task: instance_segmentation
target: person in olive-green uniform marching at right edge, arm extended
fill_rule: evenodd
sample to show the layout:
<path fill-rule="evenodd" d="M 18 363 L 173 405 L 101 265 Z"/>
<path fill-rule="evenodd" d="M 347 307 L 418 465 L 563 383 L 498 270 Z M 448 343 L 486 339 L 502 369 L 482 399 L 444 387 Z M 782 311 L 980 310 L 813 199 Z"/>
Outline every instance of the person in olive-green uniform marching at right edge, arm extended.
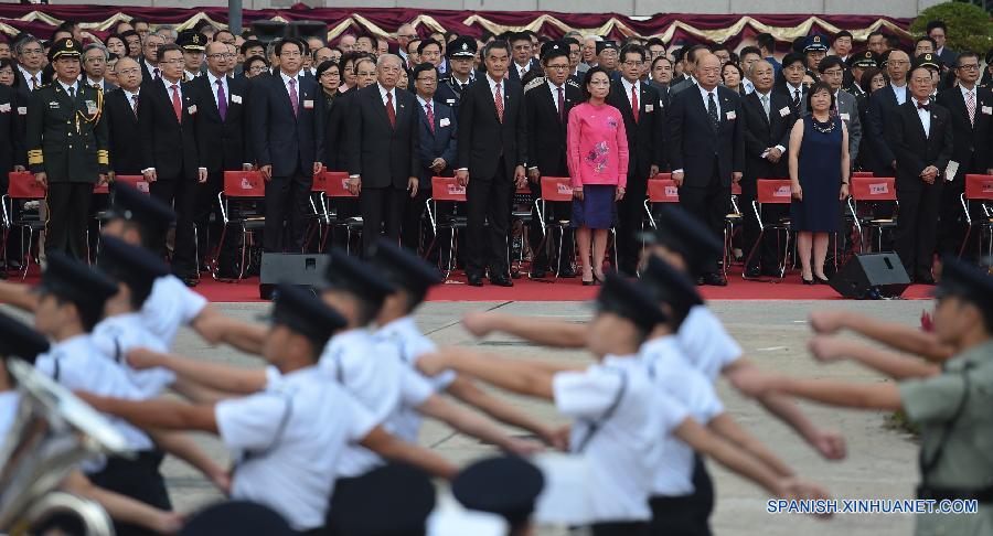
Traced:
<path fill-rule="evenodd" d="M 874 363 L 896 383 L 852 384 L 783 376 L 745 378 L 750 394 L 780 392 L 833 406 L 903 410 L 920 426 L 918 499 L 936 508 L 975 501 L 974 513 L 925 513 L 917 536 L 993 535 L 993 277 L 954 258 L 942 262 L 935 335 L 954 349 L 939 368 L 890 355 Z M 743 382 L 739 378 L 739 387 Z"/>

